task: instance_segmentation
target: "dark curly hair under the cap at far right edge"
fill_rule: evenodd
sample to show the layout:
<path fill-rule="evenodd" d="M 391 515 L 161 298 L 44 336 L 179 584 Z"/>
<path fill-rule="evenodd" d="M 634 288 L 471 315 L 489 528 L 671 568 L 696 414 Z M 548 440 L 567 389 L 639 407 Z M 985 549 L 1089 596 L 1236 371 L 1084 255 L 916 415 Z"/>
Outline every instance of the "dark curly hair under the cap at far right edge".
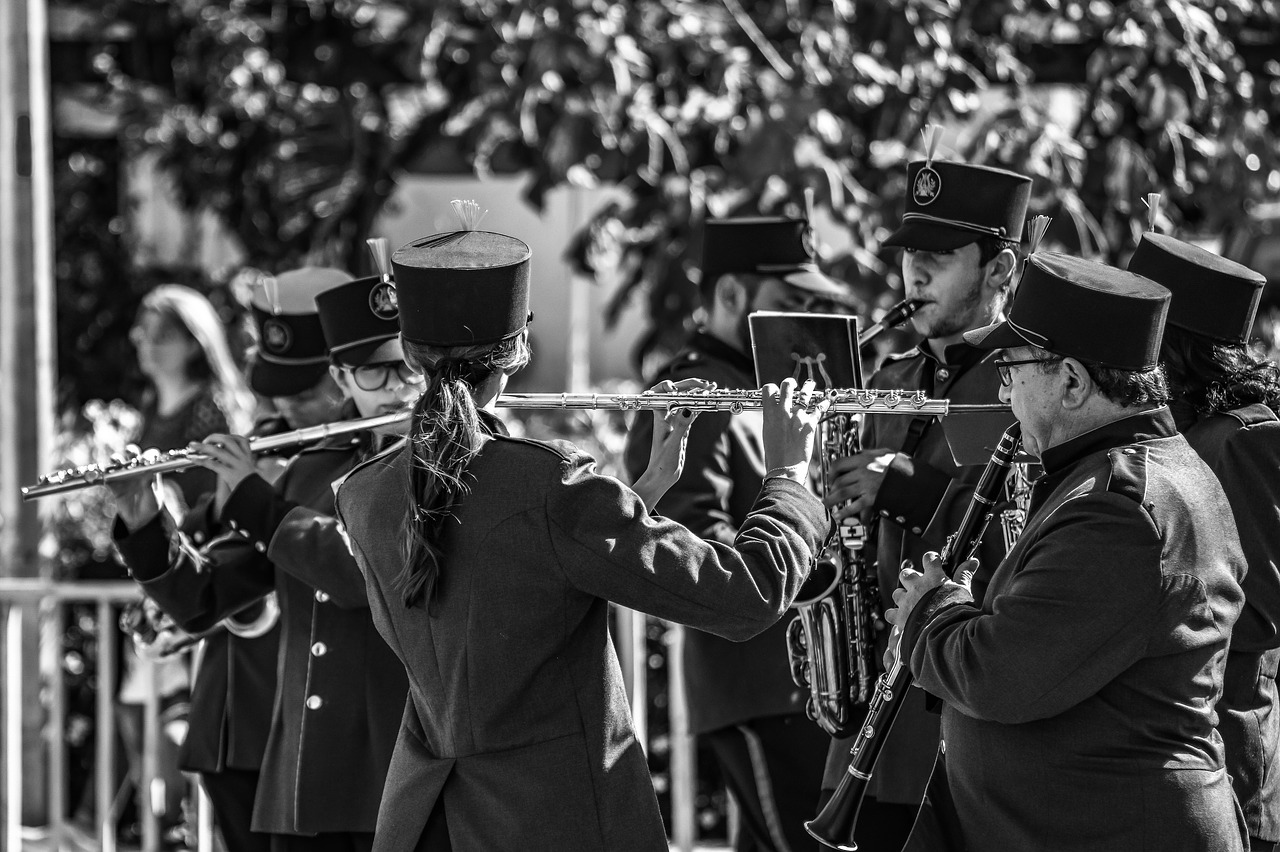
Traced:
<path fill-rule="evenodd" d="M 1262 403 L 1280 412 L 1280 365 L 1229 343 L 1170 325 L 1161 348 L 1169 384 L 1199 416 Z"/>

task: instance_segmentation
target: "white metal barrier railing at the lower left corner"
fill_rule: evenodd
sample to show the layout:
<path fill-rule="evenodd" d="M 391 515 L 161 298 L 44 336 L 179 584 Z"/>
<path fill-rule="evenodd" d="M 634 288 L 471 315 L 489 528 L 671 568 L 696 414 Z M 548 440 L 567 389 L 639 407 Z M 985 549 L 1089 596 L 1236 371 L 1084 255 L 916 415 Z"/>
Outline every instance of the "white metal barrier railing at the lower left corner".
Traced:
<path fill-rule="evenodd" d="M 116 847 L 118 793 L 115 779 L 115 692 L 119 660 L 110 631 L 115 629 L 118 608 L 141 597 L 138 587 L 128 581 L 67 582 L 46 580 L 0 578 L 0 613 L 4 618 L 4 783 L 5 783 L 5 848 L 23 848 L 23 684 L 36 677 L 47 696 L 44 702 L 47 720 L 41 727 L 47 762 L 47 846 L 68 848 L 67 843 L 67 696 L 63 677 L 61 642 L 67 623 L 67 604 L 91 603 L 97 606 L 97 677 L 95 693 L 95 761 L 93 823 L 102 852 Z M 35 617 L 40 624 L 37 672 L 28 673 L 23 651 L 24 620 Z M 159 773 L 160 696 L 155 687 L 155 664 L 140 660 L 140 674 L 146 692 L 142 722 L 142 760 L 137 783 L 137 802 L 142 828 L 142 852 L 161 848 L 160 814 L 163 779 Z M 211 811 L 204 791 L 197 793 L 196 837 L 200 852 L 212 848 Z"/>

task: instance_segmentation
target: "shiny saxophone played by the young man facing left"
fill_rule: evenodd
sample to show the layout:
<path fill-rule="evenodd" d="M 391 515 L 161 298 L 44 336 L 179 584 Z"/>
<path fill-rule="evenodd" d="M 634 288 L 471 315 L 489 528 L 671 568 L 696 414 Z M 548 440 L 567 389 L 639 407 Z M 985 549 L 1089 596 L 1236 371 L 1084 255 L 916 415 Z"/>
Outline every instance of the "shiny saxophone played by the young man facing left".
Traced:
<path fill-rule="evenodd" d="M 886 329 L 905 322 L 919 307 L 902 301 L 884 317 L 858 335 L 867 345 Z M 832 413 L 822 420 L 822 487 L 832 485 L 832 464 L 861 452 L 860 414 Z M 873 695 L 879 674 L 876 636 L 884 628 L 879 583 L 867 564 L 868 531 L 856 517 L 832 528 L 809 580 L 792 608 L 796 617 L 787 626 L 787 656 L 791 679 L 808 691 L 805 713 L 832 737 L 849 736 L 855 718 Z"/>

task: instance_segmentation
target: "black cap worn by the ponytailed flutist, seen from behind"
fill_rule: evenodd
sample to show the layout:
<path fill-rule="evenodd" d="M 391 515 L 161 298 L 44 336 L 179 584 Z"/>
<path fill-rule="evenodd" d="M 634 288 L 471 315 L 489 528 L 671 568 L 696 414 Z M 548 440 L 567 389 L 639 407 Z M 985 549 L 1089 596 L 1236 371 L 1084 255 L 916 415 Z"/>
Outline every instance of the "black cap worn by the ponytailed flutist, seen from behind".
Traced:
<path fill-rule="evenodd" d="M 520 334 L 529 312 L 529 246 L 488 230 L 424 237 L 392 255 L 399 330 L 436 347 L 498 343 Z"/>

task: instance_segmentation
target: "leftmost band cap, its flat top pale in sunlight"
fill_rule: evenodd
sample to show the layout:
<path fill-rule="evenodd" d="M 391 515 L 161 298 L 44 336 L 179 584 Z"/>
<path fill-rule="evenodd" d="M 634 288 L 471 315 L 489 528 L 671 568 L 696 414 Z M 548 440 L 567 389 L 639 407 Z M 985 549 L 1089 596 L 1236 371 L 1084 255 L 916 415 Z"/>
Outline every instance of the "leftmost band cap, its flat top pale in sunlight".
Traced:
<path fill-rule="evenodd" d="M 316 266 L 266 279 L 250 299 L 257 327 L 257 351 L 248 384 L 264 397 L 292 397 L 314 388 L 329 370 L 328 347 L 316 313 L 316 297 L 351 275 Z"/>

